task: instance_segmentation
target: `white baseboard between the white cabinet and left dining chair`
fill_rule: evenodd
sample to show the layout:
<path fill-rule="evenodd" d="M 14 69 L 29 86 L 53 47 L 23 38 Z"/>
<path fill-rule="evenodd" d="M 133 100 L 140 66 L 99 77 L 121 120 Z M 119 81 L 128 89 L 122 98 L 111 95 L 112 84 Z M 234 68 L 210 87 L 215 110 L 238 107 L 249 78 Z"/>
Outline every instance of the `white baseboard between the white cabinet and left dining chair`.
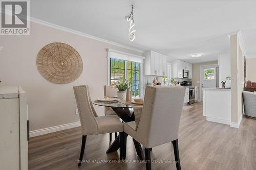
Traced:
<path fill-rule="evenodd" d="M 58 125 L 58 126 L 54 126 L 54 127 L 30 131 L 29 136 L 35 137 L 35 136 L 44 135 L 44 134 L 48 134 L 48 133 L 52 133 L 52 132 L 57 132 L 57 131 L 65 130 L 65 129 L 75 128 L 75 127 L 79 127 L 79 126 L 81 126 L 80 122 L 74 122 L 74 123 L 65 124 L 65 125 Z"/>

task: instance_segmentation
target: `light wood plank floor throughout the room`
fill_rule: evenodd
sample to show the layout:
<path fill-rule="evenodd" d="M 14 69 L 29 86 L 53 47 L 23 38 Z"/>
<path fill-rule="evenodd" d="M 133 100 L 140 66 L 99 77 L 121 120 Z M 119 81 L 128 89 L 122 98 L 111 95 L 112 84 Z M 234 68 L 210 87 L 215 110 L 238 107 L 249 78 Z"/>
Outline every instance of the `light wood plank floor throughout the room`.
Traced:
<path fill-rule="evenodd" d="M 179 130 L 182 169 L 256 169 L 256 120 L 243 117 L 239 129 L 206 122 L 203 105 L 183 110 Z M 114 134 L 113 134 L 114 137 Z M 33 137 L 29 141 L 29 169 L 145 169 L 144 163 L 82 163 L 80 128 Z M 119 152 L 106 154 L 109 134 L 89 136 L 83 159 L 118 160 Z M 172 143 L 153 148 L 153 160 L 175 160 Z M 131 137 L 126 160 L 140 160 Z M 176 169 L 175 163 L 152 163 L 152 169 Z"/>

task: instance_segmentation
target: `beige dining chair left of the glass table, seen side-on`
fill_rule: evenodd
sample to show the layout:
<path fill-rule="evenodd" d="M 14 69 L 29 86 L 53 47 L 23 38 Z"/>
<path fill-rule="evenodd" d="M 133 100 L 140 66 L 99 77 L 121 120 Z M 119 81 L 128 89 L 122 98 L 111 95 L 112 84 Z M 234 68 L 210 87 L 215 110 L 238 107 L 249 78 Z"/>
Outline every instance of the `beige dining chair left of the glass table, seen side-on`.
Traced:
<path fill-rule="evenodd" d="M 82 127 L 82 145 L 78 163 L 78 166 L 80 166 L 86 146 L 87 135 L 122 132 L 123 124 L 117 115 L 97 115 L 91 102 L 88 86 L 74 86 L 73 88 Z M 122 158 L 121 149 L 122 147 L 120 147 L 120 158 Z"/>

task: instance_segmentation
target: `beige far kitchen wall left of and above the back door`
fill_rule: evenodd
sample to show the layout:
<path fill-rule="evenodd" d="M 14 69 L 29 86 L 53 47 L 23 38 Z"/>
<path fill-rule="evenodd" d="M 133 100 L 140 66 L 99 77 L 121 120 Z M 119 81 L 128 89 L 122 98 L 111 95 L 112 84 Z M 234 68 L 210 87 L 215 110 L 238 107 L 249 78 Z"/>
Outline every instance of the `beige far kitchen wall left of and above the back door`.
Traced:
<path fill-rule="evenodd" d="M 201 90 L 200 90 L 200 65 L 211 65 L 218 64 L 218 61 L 210 61 L 204 63 L 192 64 L 192 86 L 198 86 L 198 99 L 201 100 Z"/>

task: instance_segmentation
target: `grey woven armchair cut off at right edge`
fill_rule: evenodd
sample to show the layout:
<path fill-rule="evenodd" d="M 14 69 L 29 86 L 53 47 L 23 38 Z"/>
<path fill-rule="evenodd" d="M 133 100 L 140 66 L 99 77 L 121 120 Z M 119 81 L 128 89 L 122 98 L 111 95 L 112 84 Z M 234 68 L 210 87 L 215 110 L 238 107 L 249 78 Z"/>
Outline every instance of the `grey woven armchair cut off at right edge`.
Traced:
<path fill-rule="evenodd" d="M 256 118 L 256 94 L 250 91 L 243 91 L 244 114 Z"/>

